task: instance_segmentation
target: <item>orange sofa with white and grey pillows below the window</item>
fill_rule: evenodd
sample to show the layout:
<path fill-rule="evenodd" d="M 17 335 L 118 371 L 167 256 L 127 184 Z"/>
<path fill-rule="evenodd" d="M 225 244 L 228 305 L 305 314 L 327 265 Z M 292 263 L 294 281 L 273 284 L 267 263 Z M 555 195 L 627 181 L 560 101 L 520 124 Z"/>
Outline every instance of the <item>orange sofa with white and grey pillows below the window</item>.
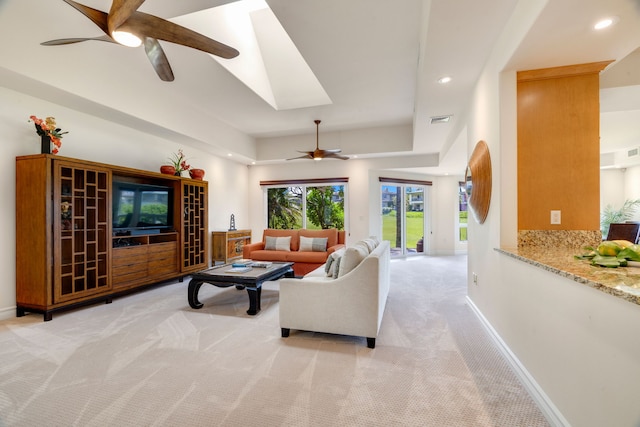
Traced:
<path fill-rule="evenodd" d="M 244 246 L 242 256 L 254 261 L 293 262 L 294 274 L 304 276 L 324 264 L 331 253 L 344 248 L 344 239 L 344 230 L 339 231 L 335 228 L 327 230 L 268 228 L 262 234 L 262 241 Z"/>

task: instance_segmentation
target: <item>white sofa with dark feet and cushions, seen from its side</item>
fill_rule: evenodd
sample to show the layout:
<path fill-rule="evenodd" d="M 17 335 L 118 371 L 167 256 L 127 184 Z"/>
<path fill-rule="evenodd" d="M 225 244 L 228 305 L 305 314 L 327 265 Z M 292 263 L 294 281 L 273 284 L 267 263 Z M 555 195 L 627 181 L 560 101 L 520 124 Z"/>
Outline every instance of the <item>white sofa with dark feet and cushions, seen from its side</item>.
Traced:
<path fill-rule="evenodd" d="M 347 265 L 354 263 L 354 253 L 356 259 L 357 252 L 362 253 L 361 242 L 346 248 L 340 270 L 348 272 L 336 278 L 327 277 L 323 265 L 301 279 L 280 280 L 282 337 L 291 329 L 355 335 L 366 337 L 367 346 L 375 348 L 389 294 L 389 242 L 375 242 L 355 266 Z"/>

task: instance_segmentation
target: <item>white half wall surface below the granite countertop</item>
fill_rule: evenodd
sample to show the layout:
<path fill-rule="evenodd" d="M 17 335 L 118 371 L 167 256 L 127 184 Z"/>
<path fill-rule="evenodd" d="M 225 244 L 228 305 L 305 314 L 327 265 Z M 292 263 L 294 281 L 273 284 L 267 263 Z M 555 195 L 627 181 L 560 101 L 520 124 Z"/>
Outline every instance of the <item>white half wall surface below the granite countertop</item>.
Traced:
<path fill-rule="evenodd" d="M 494 267 L 500 295 L 484 313 L 560 420 L 637 426 L 640 307 L 506 255 Z"/>

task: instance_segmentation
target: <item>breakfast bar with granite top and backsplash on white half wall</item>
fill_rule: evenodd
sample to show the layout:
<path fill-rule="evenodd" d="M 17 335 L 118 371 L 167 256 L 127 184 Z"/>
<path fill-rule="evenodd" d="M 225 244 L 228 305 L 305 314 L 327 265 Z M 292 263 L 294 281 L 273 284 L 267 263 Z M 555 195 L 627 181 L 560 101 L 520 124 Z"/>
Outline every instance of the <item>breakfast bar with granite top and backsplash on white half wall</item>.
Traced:
<path fill-rule="evenodd" d="M 470 261 L 469 299 L 550 425 L 640 420 L 640 268 L 575 258 L 601 242 L 599 230 L 520 230 Z"/>

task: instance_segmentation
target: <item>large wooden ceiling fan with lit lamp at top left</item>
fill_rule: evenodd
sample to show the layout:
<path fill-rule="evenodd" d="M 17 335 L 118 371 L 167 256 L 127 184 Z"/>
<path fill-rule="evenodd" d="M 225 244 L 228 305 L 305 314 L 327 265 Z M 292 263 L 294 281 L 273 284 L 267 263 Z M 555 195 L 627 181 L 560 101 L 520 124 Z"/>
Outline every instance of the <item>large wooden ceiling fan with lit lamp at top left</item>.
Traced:
<path fill-rule="evenodd" d="M 144 44 L 147 57 L 161 80 L 174 80 L 167 56 L 158 40 L 198 49 L 225 59 L 235 58 L 239 52 L 223 43 L 210 39 L 181 25 L 154 15 L 138 12 L 145 0 L 113 0 L 109 13 L 85 6 L 72 0 L 64 0 L 102 31 L 104 36 L 56 39 L 41 43 L 44 46 L 59 46 L 87 40 L 118 43 L 138 47 Z"/>

